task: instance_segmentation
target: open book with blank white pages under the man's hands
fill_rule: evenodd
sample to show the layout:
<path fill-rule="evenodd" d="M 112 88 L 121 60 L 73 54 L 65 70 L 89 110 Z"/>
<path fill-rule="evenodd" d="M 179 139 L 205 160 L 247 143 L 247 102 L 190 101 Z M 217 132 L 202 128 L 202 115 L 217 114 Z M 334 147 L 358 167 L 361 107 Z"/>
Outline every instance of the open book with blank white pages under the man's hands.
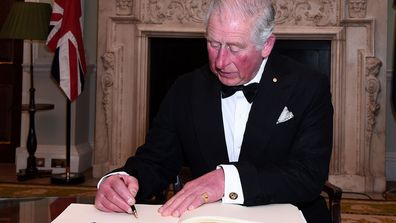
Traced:
<path fill-rule="evenodd" d="M 99 211 L 92 204 L 71 204 L 52 223 L 306 223 L 297 207 L 290 204 L 271 204 L 244 207 L 211 203 L 187 211 L 180 218 L 162 217 L 160 205 L 136 205 L 139 218 L 126 213 Z"/>

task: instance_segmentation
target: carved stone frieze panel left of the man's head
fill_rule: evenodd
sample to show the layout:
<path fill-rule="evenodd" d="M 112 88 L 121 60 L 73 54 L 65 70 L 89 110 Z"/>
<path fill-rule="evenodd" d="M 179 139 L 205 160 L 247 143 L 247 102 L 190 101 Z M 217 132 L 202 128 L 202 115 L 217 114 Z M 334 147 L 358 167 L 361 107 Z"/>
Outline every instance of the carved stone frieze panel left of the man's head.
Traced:
<path fill-rule="evenodd" d="M 202 23 L 209 0 L 149 0 L 145 23 Z"/>

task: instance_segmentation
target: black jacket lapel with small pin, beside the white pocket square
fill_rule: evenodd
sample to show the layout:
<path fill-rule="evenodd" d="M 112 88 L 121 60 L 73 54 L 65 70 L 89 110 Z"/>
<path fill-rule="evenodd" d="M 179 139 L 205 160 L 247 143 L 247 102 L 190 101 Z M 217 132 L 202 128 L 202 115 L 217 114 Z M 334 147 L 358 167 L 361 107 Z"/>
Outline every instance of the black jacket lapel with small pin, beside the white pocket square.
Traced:
<path fill-rule="evenodd" d="M 282 66 L 283 61 L 277 56 L 268 59 L 246 123 L 239 161 L 257 157 L 266 148 L 276 121 L 287 106 L 295 80 Z"/>

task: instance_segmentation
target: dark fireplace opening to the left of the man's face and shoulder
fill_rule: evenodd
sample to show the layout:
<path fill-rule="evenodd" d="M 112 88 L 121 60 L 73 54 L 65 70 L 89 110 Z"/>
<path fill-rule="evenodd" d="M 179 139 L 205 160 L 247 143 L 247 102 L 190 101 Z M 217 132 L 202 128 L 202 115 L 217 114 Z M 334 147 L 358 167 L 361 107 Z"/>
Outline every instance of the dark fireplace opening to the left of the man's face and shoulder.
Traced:
<path fill-rule="evenodd" d="M 149 124 L 176 78 L 208 61 L 204 38 L 149 39 Z"/>

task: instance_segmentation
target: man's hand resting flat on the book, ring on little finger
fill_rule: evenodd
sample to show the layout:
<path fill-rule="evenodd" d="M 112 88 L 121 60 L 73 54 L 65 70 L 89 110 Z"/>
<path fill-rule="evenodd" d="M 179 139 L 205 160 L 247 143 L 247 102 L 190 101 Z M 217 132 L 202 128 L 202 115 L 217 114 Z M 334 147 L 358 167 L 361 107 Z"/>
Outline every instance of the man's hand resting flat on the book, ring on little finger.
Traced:
<path fill-rule="evenodd" d="M 205 199 L 204 196 L 207 195 Z M 169 199 L 158 211 L 162 216 L 179 217 L 187 210 L 205 203 L 220 200 L 224 195 L 223 169 L 211 171 L 184 185 L 179 193 Z"/>

